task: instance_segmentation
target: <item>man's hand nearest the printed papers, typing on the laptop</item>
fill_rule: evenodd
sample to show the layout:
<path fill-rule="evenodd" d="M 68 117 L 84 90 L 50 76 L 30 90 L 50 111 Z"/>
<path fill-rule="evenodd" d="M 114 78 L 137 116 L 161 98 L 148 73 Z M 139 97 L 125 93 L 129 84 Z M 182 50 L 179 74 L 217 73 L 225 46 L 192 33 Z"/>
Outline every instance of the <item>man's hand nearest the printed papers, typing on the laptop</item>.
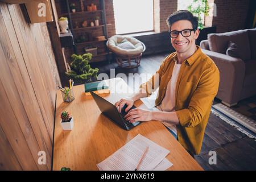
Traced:
<path fill-rule="evenodd" d="M 151 110 L 145 110 L 141 108 L 131 109 L 126 115 L 126 121 L 137 122 L 137 121 L 150 121 L 152 120 Z"/>

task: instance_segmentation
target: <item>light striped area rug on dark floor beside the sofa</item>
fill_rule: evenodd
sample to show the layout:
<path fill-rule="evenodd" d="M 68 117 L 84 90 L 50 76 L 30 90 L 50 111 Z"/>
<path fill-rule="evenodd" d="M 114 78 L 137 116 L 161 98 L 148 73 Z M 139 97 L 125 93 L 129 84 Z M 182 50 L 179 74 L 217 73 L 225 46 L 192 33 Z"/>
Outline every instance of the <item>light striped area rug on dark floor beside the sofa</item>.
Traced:
<path fill-rule="evenodd" d="M 256 139 L 255 119 L 241 114 L 241 111 L 238 113 L 238 111 L 234 110 L 232 107 L 227 107 L 221 103 L 212 106 L 212 113 L 246 134 L 249 138 Z"/>

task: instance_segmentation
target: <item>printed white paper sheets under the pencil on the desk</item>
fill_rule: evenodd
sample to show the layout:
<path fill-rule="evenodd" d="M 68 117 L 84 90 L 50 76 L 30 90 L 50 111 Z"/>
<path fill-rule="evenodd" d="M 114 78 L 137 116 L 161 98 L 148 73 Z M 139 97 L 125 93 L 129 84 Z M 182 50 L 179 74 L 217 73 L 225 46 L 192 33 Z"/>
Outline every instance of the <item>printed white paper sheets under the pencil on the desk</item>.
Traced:
<path fill-rule="evenodd" d="M 155 168 L 156 170 L 165 170 L 172 166 L 172 163 L 165 159 L 170 151 L 138 134 L 125 146 L 97 164 L 97 167 L 104 171 L 134 171 L 147 146 L 148 152 L 138 170 L 150 171 Z"/>

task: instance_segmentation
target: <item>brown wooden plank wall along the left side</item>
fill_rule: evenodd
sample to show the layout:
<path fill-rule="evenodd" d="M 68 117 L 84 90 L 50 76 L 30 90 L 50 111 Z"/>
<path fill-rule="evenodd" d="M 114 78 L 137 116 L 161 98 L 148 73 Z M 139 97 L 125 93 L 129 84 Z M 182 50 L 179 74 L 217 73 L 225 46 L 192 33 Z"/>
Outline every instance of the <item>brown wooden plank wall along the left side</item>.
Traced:
<path fill-rule="evenodd" d="M 40 23 L 27 22 L 0 2 L 0 170 L 51 169 L 56 90 Z"/>

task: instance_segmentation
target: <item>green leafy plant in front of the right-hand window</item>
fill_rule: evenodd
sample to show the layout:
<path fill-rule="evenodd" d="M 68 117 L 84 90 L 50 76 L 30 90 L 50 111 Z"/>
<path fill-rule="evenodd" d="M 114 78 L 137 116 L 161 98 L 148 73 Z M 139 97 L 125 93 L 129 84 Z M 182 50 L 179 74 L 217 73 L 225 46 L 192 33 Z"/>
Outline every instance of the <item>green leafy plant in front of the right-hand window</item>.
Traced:
<path fill-rule="evenodd" d="M 204 28 L 204 19 L 201 16 L 209 15 L 208 0 L 193 0 L 193 3 L 187 9 L 198 18 L 198 28 L 202 30 Z"/>

